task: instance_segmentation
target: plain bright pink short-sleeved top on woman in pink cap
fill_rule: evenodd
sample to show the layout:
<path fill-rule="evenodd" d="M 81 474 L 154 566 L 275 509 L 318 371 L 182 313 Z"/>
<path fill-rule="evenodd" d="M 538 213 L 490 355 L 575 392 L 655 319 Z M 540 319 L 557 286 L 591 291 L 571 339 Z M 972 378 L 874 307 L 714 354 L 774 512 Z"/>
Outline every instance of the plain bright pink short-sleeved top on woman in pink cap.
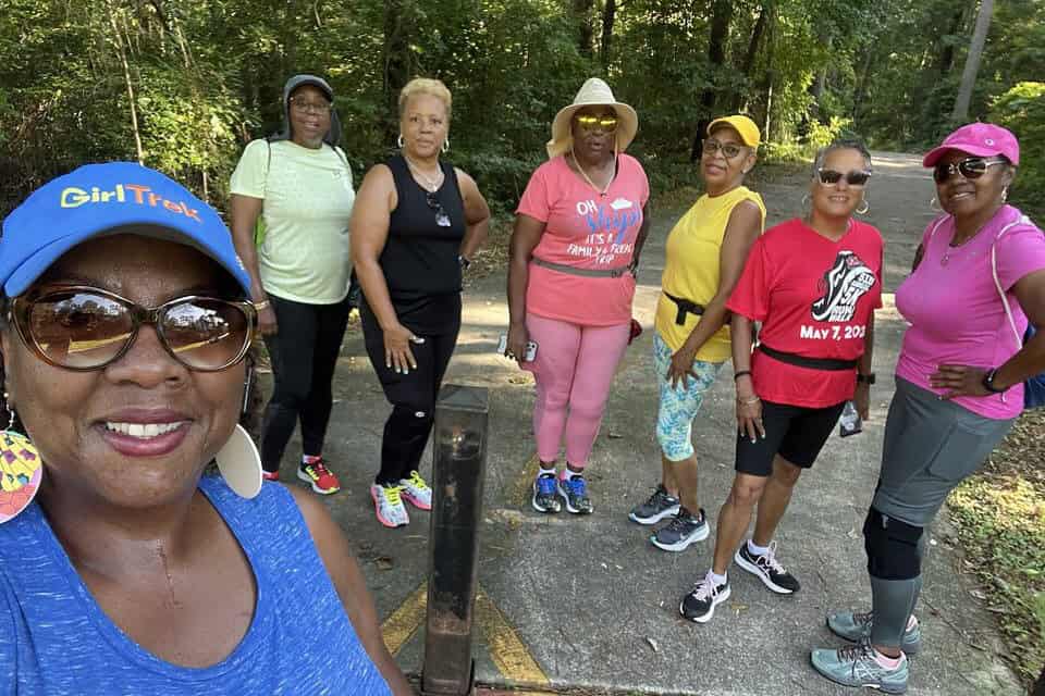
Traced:
<path fill-rule="evenodd" d="M 896 308 L 911 323 L 896 365 L 898 377 L 939 394 L 929 385 L 937 365 L 997 368 L 1020 349 L 991 268 L 991 247 L 998 233 L 1020 216 L 1019 210 L 1006 206 L 960 247 L 950 247 L 954 219 L 944 220 L 931 236 L 936 221 L 929 225 L 922 236 L 922 262 L 896 290 Z M 1030 222 L 1015 225 L 997 239 L 996 256 L 998 279 L 1022 336 L 1026 315 L 1011 289 L 1023 276 L 1045 269 L 1045 235 Z M 1023 410 L 1023 385 L 1001 395 L 959 397 L 955 403 L 985 418 L 1016 418 Z"/>

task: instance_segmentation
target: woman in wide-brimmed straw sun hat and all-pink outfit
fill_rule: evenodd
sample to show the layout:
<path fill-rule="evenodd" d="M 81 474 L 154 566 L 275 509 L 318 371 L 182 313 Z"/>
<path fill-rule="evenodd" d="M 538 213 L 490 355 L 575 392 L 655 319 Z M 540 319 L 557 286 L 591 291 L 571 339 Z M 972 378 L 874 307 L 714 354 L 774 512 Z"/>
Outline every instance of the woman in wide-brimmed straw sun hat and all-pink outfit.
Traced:
<path fill-rule="evenodd" d="M 649 231 L 649 181 L 624 151 L 638 116 L 592 77 L 552 123 L 549 161 L 516 210 L 506 353 L 533 372 L 540 471 L 533 507 L 592 511 L 583 477 L 631 331 L 635 273 Z M 568 301 L 564 301 L 568 298 Z M 527 343 L 537 353 L 527 360 Z M 566 467 L 556 482 L 562 440 Z"/>

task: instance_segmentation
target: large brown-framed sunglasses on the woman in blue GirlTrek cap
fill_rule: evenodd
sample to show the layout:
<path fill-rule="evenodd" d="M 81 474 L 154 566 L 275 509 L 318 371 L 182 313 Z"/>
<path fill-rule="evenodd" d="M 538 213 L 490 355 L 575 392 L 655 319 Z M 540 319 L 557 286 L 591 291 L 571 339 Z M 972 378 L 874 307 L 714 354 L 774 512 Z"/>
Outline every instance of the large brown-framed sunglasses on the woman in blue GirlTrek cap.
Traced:
<path fill-rule="evenodd" d="M 257 312 L 249 302 L 189 295 L 142 307 L 114 293 L 63 286 L 14 298 L 11 318 L 22 343 L 67 370 L 101 370 L 123 357 L 143 325 L 189 370 L 217 372 L 250 348 Z"/>

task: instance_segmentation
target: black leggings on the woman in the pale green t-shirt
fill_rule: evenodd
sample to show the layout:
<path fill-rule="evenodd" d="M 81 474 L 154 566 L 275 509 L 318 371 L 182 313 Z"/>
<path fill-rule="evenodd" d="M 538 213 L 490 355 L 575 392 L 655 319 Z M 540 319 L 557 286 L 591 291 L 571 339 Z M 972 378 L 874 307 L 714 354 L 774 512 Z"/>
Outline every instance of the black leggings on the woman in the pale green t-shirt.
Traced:
<path fill-rule="evenodd" d="M 348 323 L 347 298 L 336 304 L 306 304 L 269 295 L 279 333 L 265 337 L 274 388 L 261 424 L 261 464 L 279 471 L 294 426 L 302 422 L 302 450 L 323 450 L 333 405 L 331 381 Z"/>

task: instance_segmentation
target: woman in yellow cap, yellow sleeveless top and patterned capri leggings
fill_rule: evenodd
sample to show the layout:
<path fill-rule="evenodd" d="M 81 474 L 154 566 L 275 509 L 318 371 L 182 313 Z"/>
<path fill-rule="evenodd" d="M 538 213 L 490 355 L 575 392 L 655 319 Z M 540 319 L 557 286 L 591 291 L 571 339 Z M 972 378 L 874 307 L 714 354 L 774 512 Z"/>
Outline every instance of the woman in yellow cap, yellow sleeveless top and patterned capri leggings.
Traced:
<path fill-rule="evenodd" d="M 762 198 L 743 186 L 759 141 L 759 128 L 747 116 L 711 122 L 700 160 L 706 192 L 667 237 L 653 336 L 662 478 L 628 517 L 647 525 L 671 518 L 650 536 L 668 551 L 681 551 L 709 535 L 697 498 L 692 422 L 729 359 L 726 300 L 765 222 Z"/>

